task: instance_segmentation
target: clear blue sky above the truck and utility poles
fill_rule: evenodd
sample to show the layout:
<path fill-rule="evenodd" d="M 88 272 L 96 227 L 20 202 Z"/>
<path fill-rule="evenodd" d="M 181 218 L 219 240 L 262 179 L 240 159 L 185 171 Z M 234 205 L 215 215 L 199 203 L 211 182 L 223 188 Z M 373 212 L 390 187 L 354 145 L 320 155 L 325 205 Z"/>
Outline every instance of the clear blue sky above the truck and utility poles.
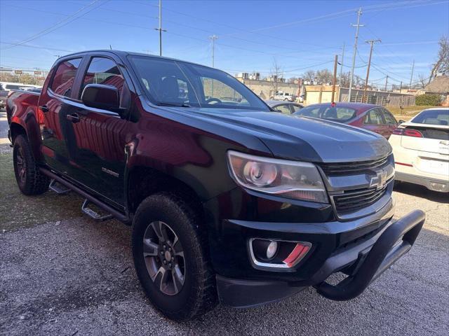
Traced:
<path fill-rule="evenodd" d="M 332 69 L 333 57 L 341 57 L 345 43 L 347 71 L 355 32 L 350 24 L 356 22 L 359 6 L 365 27 L 360 29 L 356 75 L 366 76 L 365 41 L 381 38 L 370 81 L 384 83 L 388 74 L 390 83 L 408 83 L 413 59 L 413 80 L 420 73 L 428 76 L 438 38 L 449 34 L 447 0 L 163 0 L 163 55 L 210 65 L 209 36 L 215 34 L 215 67 L 266 75 L 276 58 L 289 78 L 307 69 Z M 57 55 L 109 45 L 158 54 L 157 17 L 156 0 L 0 0 L 0 65 L 49 69 Z"/>

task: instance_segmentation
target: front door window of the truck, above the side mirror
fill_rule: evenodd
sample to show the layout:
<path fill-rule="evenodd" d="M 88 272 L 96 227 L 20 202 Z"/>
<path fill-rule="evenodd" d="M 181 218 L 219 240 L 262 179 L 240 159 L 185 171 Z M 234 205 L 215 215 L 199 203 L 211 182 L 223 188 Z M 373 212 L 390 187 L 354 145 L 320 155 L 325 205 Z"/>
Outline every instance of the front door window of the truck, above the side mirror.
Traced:
<path fill-rule="evenodd" d="M 119 67 L 112 59 L 105 57 L 93 57 L 81 84 L 80 97 L 84 87 L 88 84 L 112 85 L 119 90 L 122 96 L 123 86 L 126 85 Z"/>

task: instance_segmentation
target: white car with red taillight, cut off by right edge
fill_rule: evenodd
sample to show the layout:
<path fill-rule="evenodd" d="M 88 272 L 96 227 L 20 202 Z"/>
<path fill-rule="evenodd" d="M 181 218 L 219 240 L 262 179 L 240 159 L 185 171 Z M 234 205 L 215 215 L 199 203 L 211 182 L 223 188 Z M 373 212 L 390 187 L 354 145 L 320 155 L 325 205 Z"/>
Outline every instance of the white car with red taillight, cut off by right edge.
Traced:
<path fill-rule="evenodd" d="M 389 138 L 396 181 L 449 192 L 449 108 L 421 111 Z"/>

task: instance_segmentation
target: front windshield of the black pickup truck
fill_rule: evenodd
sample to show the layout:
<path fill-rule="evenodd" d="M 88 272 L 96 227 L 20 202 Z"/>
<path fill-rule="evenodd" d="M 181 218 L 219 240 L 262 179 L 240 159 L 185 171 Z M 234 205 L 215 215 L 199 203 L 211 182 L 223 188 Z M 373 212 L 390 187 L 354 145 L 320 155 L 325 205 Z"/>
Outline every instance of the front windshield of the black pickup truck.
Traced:
<path fill-rule="evenodd" d="M 253 91 L 223 71 L 171 59 L 137 55 L 129 58 L 154 104 L 270 111 Z"/>

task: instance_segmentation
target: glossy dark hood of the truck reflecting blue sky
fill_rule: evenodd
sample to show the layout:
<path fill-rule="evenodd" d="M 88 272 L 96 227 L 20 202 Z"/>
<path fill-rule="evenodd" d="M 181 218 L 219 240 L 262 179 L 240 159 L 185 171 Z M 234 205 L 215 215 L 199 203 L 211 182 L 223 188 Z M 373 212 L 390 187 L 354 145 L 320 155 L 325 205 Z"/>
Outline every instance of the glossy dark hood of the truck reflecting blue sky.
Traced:
<path fill-rule="evenodd" d="M 276 112 L 187 109 L 198 118 L 227 123 L 258 137 L 276 158 L 309 162 L 375 160 L 391 153 L 384 137 L 358 127 Z"/>

